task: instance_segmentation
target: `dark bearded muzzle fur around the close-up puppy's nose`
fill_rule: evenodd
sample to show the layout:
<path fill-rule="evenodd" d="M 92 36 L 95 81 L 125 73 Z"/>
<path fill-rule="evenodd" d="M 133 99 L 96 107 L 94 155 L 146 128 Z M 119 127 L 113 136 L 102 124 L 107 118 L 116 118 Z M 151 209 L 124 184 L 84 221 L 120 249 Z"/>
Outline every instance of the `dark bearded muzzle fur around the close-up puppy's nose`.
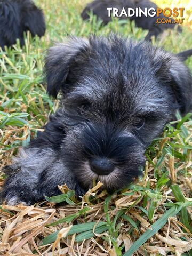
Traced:
<path fill-rule="evenodd" d="M 62 159 L 79 185 L 88 189 L 101 181 L 109 192 L 121 189 L 142 174 L 145 147 L 132 134 L 113 125 L 86 124 L 71 129 L 63 141 Z M 113 165 L 110 173 L 97 173 L 93 161 L 104 159 Z"/>

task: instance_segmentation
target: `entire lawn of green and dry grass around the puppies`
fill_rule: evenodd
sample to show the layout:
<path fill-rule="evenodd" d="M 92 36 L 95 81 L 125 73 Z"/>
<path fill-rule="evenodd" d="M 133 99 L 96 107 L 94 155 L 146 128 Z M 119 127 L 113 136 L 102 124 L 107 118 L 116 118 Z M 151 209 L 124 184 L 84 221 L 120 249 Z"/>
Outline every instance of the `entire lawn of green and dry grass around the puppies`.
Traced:
<path fill-rule="evenodd" d="M 129 21 L 121 26 L 114 19 L 106 27 L 94 17 L 92 23 L 82 21 L 80 13 L 90 1 L 35 2 L 45 13 L 45 36 L 31 39 L 28 34 L 22 49 L 18 42 L 0 51 L 0 167 L 11 163 L 18 147 L 26 146 L 59 106 L 47 97 L 42 78 L 45 50 L 54 41 L 111 31 L 138 40 L 147 34 Z M 181 34 L 167 30 L 153 44 L 174 53 L 190 49 L 190 0 L 158 4 L 186 7 L 186 21 Z M 186 65 L 192 70 L 192 57 Z M 63 187 L 62 198 L 52 201 L 70 203 L 65 206 L 46 201 L 29 207 L 1 205 L 0 255 L 191 255 L 190 117 L 177 113 L 146 151 L 143 177 L 123 191 L 108 195 L 98 184 L 77 201 Z M 4 178 L 2 172 L 0 186 Z"/>

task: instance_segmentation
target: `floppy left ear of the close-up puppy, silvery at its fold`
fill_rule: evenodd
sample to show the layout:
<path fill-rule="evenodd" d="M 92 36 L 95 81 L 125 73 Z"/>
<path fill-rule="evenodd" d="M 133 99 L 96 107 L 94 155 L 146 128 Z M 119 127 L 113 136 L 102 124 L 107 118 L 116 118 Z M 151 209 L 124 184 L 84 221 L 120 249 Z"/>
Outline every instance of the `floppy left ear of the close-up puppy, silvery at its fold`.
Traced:
<path fill-rule="evenodd" d="M 44 74 L 48 95 L 57 98 L 60 89 L 65 92 L 72 64 L 88 46 L 89 42 L 84 39 L 68 38 L 67 42 L 58 43 L 47 51 Z"/>

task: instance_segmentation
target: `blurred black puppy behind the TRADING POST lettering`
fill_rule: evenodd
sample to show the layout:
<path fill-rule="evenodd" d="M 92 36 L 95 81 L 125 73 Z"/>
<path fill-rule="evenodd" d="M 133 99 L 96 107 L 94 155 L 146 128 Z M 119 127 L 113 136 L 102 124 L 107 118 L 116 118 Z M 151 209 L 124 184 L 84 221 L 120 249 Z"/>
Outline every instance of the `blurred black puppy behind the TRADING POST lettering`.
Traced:
<path fill-rule="evenodd" d="M 93 2 L 87 4 L 85 9 L 83 10 L 81 16 L 84 20 L 87 20 L 90 18 L 89 13 L 93 12 L 94 15 L 97 16 L 97 18 L 100 18 L 103 22 L 103 25 L 106 25 L 109 21 L 111 21 L 111 17 L 108 17 L 108 10 L 107 8 L 117 8 L 119 12 L 125 8 L 141 8 L 142 10 L 145 10 L 145 8 L 150 9 L 154 8 L 157 9 L 157 5 L 149 0 L 94 0 Z M 157 18 L 166 18 L 161 13 L 159 14 L 159 17 L 145 17 L 145 15 L 141 15 L 141 17 L 129 17 L 129 19 L 132 21 L 135 21 L 135 25 L 137 27 L 140 27 L 142 29 L 148 29 L 149 32 L 146 36 L 146 40 L 150 40 L 152 36 L 157 37 L 160 33 L 162 33 L 165 29 L 173 29 L 175 27 L 175 24 L 170 23 L 160 23 L 156 24 Z M 122 16 L 119 17 L 119 19 L 127 19 L 127 17 Z M 167 18 L 166 18 L 167 19 Z M 171 18 L 169 18 L 171 19 Z M 174 22 L 174 19 L 171 19 L 172 22 Z M 178 26 L 178 31 L 181 32 L 181 27 Z"/>

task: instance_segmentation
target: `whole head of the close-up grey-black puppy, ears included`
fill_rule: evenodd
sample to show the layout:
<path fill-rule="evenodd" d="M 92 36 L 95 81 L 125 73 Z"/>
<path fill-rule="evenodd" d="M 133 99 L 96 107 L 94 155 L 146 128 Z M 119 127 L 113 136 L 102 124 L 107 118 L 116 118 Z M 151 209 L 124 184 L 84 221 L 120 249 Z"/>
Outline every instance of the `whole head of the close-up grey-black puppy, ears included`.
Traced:
<path fill-rule="evenodd" d="M 52 47 L 47 91 L 62 91 L 61 157 L 83 188 L 122 188 L 141 174 L 145 149 L 175 109 L 188 111 L 191 76 L 179 58 L 112 36 Z"/>

